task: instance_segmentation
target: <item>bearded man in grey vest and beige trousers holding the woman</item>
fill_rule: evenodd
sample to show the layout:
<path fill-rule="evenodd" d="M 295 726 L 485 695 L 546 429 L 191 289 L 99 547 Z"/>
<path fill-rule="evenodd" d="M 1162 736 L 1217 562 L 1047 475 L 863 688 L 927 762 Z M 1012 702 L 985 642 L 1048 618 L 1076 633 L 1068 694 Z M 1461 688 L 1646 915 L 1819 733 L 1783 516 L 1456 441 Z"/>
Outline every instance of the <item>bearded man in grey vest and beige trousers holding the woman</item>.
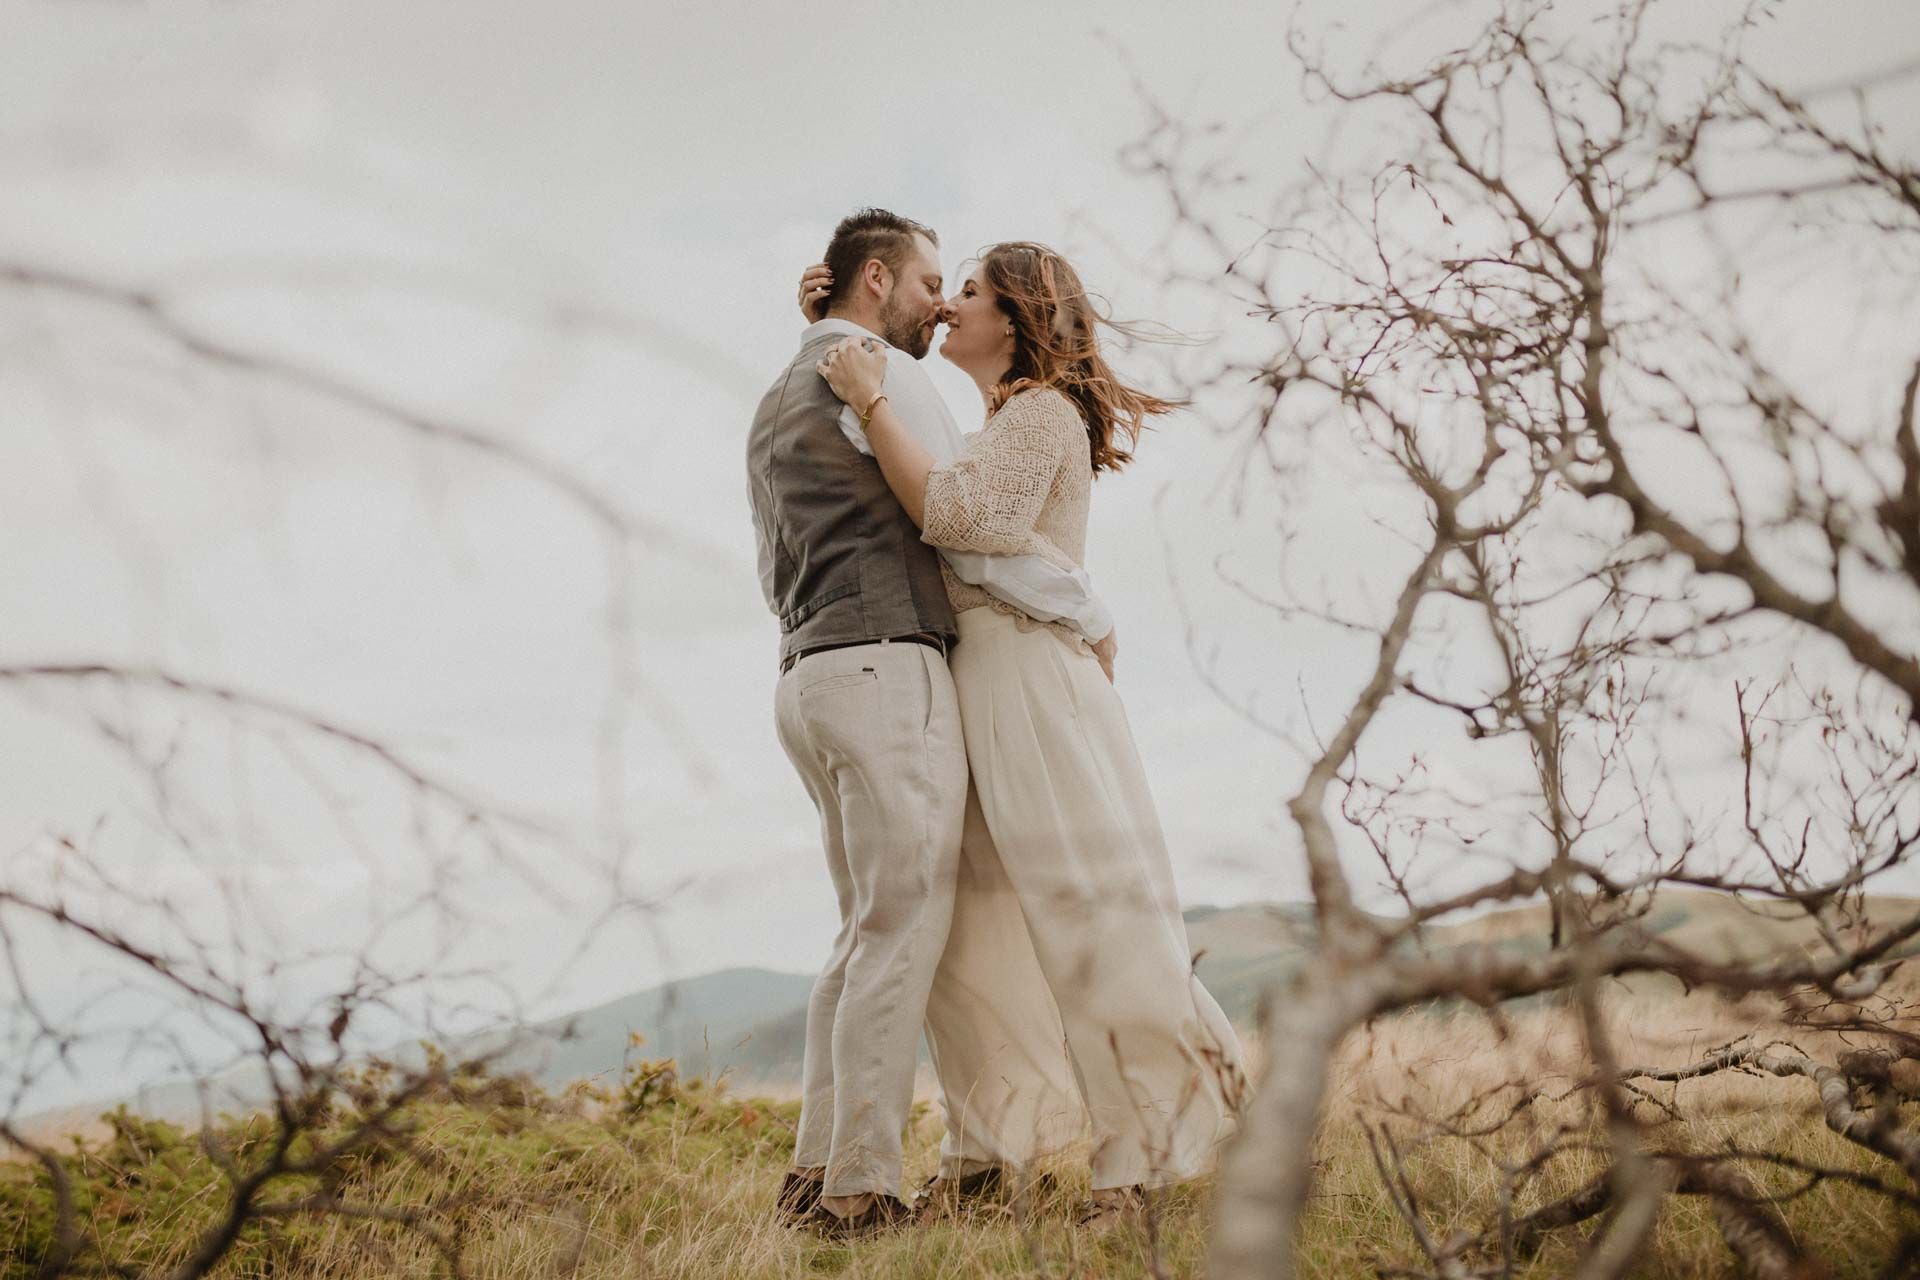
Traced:
<path fill-rule="evenodd" d="M 883 209 L 833 230 L 826 319 L 747 436 L 760 587 L 780 618 L 776 722 L 814 806 L 841 929 L 806 1013 L 801 1130 L 781 1209 L 831 1234 L 906 1221 L 900 1130 L 954 910 L 968 766 L 947 670 L 964 581 L 1110 647 L 1085 572 L 1041 557 L 947 553 L 887 489 L 858 413 L 814 370 L 833 342 L 887 344 L 893 411 L 939 462 L 960 432 L 916 363 L 941 315 L 935 234 Z"/>

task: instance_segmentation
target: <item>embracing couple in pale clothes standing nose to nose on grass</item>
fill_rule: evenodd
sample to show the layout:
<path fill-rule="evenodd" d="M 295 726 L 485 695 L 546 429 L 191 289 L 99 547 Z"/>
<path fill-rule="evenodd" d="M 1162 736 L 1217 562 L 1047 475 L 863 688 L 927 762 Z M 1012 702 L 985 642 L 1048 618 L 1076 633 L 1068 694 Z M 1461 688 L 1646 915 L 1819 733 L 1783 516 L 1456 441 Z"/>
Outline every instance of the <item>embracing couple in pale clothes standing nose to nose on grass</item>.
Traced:
<path fill-rule="evenodd" d="M 1112 1224 L 1210 1167 L 1244 1090 L 1081 568 L 1094 474 L 1175 405 L 1114 376 L 1052 249 L 996 244 L 941 286 L 933 230 L 843 219 L 747 438 L 776 723 L 841 917 L 780 1211 L 833 1236 L 964 1205 L 1089 1128 L 1083 1222 Z M 918 365 L 941 324 L 985 401 L 968 438 Z M 916 1211 L 922 1029 L 947 1136 Z"/>

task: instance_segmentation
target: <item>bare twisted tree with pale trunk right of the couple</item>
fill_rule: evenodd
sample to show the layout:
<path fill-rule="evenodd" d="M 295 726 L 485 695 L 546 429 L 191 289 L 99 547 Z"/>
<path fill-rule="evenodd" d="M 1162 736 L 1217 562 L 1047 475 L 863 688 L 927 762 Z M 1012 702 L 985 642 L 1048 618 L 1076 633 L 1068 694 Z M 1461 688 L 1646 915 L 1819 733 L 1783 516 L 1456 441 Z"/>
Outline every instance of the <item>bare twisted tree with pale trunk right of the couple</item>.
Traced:
<path fill-rule="evenodd" d="M 1329 1063 L 1440 1000 L 1496 1023 L 1526 998 L 1567 1013 L 1578 1144 L 1607 1171 L 1524 1213 L 1488 1205 L 1505 1224 L 1453 1242 L 1421 1228 L 1425 1270 L 1382 1274 L 1511 1274 L 1594 1219 L 1576 1274 L 1626 1274 L 1676 1196 L 1713 1203 L 1749 1274 L 1822 1274 L 1741 1161 L 1659 1146 L 1670 1117 L 1644 1086 L 1682 1077 L 1620 1069 L 1605 1015 L 1634 975 L 1759 1002 L 1782 1046 L 1693 1077 L 1805 1079 L 1834 1132 L 1920 1174 L 1920 1128 L 1887 1088 L 1920 1044 L 1893 981 L 1920 910 L 1870 896 L 1910 883 L 1920 841 L 1920 349 L 1903 342 L 1920 171 L 1864 96 L 1849 117 L 1755 71 L 1759 6 L 1715 46 L 1657 35 L 1680 8 L 1574 27 L 1505 4 L 1405 71 L 1342 71 L 1296 29 L 1309 90 L 1377 142 L 1348 148 L 1373 167 L 1315 167 L 1254 234 L 1219 130 L 1152 107 L 1129 152 L 1169 198 L 1167 286 L 1260 320 L 1179 370 L 1284 512 L 1273 581 L 1236 585 L 1284 626 L 1375 639 L 1336 727 L 1302 743 L 1288 814 L 1317 944 L 1271 998 L 1213 1276 L 1294 1274 Z M 1342 516 L 1315 484 L 1332 461 L 1380 495 L 1377 545 L 1342 543 L 1350 591 L 1308 589 L 1296 564 L 1313 520 Z M 1786 904 L 1816 942 L 1672 936 L 1682 887 Z M 1361 910 L 1380 894 L 1394 912 Z M 1524 946 L 1427 940 L 1523 902 L 1546 912 Z M 1872 1048 L 1795 1048 L 1834 1034 Z M 1578 1144 L 1546 1136 L 1503 1197 Z M 1895 1255 L 1916 1251 L 1908 1226 Z"/>

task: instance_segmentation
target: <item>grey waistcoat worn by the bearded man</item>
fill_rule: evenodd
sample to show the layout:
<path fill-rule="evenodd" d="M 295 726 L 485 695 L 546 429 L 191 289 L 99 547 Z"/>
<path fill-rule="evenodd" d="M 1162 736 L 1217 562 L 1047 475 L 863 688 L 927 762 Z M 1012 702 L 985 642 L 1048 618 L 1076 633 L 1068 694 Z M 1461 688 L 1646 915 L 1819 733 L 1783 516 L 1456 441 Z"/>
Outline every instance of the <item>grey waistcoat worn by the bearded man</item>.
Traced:
<path fill-rule="evenodd" d="M 920 541 L 879 462 L 841 432 L 841 401 L 814 370 L 839 338 L 801 345 L 747 432 L 760 591 L 780 618 L 781 660 L 822 645 L 956 635 L 939 555 Z"/>

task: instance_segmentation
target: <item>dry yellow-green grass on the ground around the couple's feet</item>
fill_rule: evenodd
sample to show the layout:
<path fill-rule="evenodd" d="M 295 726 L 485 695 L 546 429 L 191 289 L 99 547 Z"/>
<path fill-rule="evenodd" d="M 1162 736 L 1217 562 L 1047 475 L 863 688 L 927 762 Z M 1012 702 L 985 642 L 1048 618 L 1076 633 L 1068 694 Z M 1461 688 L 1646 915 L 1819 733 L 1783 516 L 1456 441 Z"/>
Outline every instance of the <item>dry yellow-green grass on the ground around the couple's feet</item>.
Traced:
<path fill-rule="evenodd" d="M 1678 1065 L 1751 1032 L 1757 1015 L 1711 998 L 1620 994 L 1609 1004 L 1619 1054 L 1632 1065 Z M 1515 1215 L 1557 1199 L 1605 1163 L 1584 1096 L 1563 1096 L 1576 1038 L 1563 1009 L 1534 1007 L 1496 1027 L 1478 1013 L 1409 1013 L 1354 1036 L 1319 1134 L 1319 1180 L 1300 1244 L 1309 1276 L 1371 1276 L 1419 1267 L 1421 1253 L 1382 1184 L 1375 1150 L 1398 1151 L 1434 1240 L 1498 1226 L 1503 1194 Z M 1811 1052 L 1832 1052 L 1801 1038 Z M 1532 1098 L 1519 1105 L 1521 1098 Z M 217 1274 L 372 1280 L 447 1274 L 449 1255 L 472 1276 L 728 1280 L 749 1276 L 1194 1276 L 1202 1274 L 1210 1186 L 1164 1194 L 1146 1222 L 1085 1238 L 1073 1219 L 1087 1194 L 1071 1157 L 1044 1190 L 1014 1194 L 968 1217 L 891 1236 L 831 1244 L 778 1224 L 772 1199 L 793 1146 L 793 1102 L 741 1100 L 670 1075 L 622 1092 L 524 1090 L 488 1107 L 440 1098 L 407 1117 L 411 1155 L 369 1150 L 332 1188 L 282 1186 L 269 1199 L 330 1192 L 357 1217 L 292 1213 L 246 1230 Z M 1492 1121 L 1511 1113 L 1494 1126 Z M 1805 1080 L 1718 1075 L 1657 1086 L 1638 1103 L 1657 1151 L 1715 1153 L 1730 1146 L 1807 1165 L 1901 1174 L 1820 1123 Z M 1444 1136 L 1430 1121 L 1492 1128 Z M 931 1173 L 939 1119 L 922 1107 L 910 1130 L 910 1174 Z M 238 1159 L 265 1140 L 261 1119 L 228 1125 Z M 1373 1142 L 1369 1142 L 1369 1136 Z M 1526 1178 L 1546 1140 L 1561 1153 Z M 111 1117 L 111 1138 L 77 1142 L 69 1157 L 83 1196 L 81 1274 L 163 1272 L 215 1221 L 225 1182 L 179 1128 Z M 1388 1165 L 1394 1157 L 1388 1155 Z M 1843 1180 L 1747 1167 L 1778 1197 L 1795 1242 L 1836 1276 L 1880 1274 L 1916 1222 L 1893 1199 Z M 399 1224 L 417 1215 L 426 1230 Z M 1584 1232 L 1571 1226 L 1517 1265 L 1517 1276 L 1565 1274 Z M 50 1230 L 46 1180 L 31 1165 L 0 1167 L 0 1274 L 36 1270 Z M 1492 1261 L 1492 1255 L 1486 1255 Z M 1738 1274 L 1701 1197 L 1672 1197 L 1642 1276 Z"/>

